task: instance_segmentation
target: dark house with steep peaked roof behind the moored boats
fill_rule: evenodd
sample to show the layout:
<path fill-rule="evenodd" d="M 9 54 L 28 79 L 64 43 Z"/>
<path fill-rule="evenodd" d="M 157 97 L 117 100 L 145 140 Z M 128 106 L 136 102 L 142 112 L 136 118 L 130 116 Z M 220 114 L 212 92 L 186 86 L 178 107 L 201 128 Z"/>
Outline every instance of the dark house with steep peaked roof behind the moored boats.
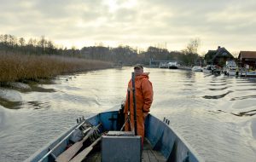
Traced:
<path fill-rule="evenodd" d="M 226 61 L 234 60 L 234 56 L 224 47 L 218 46 L 217 50 L 208 50 L 205 55 L 207 65 L 218 65 L 224 67 Z"/>

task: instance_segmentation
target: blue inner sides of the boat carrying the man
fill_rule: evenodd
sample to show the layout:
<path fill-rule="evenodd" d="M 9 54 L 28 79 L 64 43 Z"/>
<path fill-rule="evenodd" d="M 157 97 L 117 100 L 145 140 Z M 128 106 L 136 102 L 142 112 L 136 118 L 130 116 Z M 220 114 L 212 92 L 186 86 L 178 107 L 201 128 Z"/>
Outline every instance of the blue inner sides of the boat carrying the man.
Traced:
<path fill-rule="evenodd" d="M 119 130 L 119 111 L 109 111 L 105 113 L 98 113 L 86 122 L 97 125 L 102 123 L 102 130 Z M 45 148 L 38 150 L 26 161 L 55 161 L 55 158 L 65 151 L 69 144 L 70 136 L 73 130 L 79 124 L 73 126 L 70 130 L 63 133 L 53 142 L 50 142 Z M 189 161 L 197 162 L 204 161 L 201 159 L 189 144 L 183 140 L 182 137 L 177 136 L 168 124 L 155 118 L 153 115 L 148 115 L 145 121 L 145 137 L 151 143 L 154 150 L 160 151 L 167 161 Z"/>

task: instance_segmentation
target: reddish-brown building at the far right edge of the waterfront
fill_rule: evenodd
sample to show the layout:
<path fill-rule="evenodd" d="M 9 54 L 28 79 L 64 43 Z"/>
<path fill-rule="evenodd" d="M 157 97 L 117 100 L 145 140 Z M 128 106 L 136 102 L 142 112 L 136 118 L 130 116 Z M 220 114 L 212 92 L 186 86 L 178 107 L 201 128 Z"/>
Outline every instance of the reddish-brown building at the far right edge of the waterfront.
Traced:
<path fill-rule="evenodd" d="M 249 67 L 255 70 L 256 68 L 256 51 L 240 51 L 238 55 L 239 64 L 241 67 Z M 247 65 L 247 66 L 246 66 Z"/>

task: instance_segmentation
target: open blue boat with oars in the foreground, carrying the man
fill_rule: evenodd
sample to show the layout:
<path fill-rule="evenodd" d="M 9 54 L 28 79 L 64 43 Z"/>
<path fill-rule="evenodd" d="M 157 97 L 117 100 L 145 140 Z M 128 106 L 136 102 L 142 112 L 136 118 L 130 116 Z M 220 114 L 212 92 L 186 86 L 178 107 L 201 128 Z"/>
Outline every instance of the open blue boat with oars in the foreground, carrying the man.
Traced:
<path fill-rule="evenodd" d="M 115 108 L 88 119 L 77 119 L 77 124 L 32 154 L 26 162 L 204 161 L 169 126 L 169 119 L 160 120 L 151 114 L 145 120 L 145 140 L 143 148 L 140 148 L 140 136 L 134 136 L 130 131 L 119 131 L 124 123 L 122 111 Z"/>

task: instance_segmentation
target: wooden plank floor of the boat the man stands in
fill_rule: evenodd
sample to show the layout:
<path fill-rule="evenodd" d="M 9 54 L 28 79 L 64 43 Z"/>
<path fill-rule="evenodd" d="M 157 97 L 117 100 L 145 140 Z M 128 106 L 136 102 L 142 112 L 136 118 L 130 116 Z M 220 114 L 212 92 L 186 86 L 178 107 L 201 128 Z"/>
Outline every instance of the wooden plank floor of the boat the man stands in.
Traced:
<path fill-rule="evenodd" d="M 164 162 L 166 158 L 159 152 L 152 149 L 152 146 L 148 140 L 144 140 L 143 143 L 143 154 L 142 162 Z M 101 161 L 101 150 L 96 149 L 94 152 L 90 153 L 83 162 L 100 162 Z"/>

